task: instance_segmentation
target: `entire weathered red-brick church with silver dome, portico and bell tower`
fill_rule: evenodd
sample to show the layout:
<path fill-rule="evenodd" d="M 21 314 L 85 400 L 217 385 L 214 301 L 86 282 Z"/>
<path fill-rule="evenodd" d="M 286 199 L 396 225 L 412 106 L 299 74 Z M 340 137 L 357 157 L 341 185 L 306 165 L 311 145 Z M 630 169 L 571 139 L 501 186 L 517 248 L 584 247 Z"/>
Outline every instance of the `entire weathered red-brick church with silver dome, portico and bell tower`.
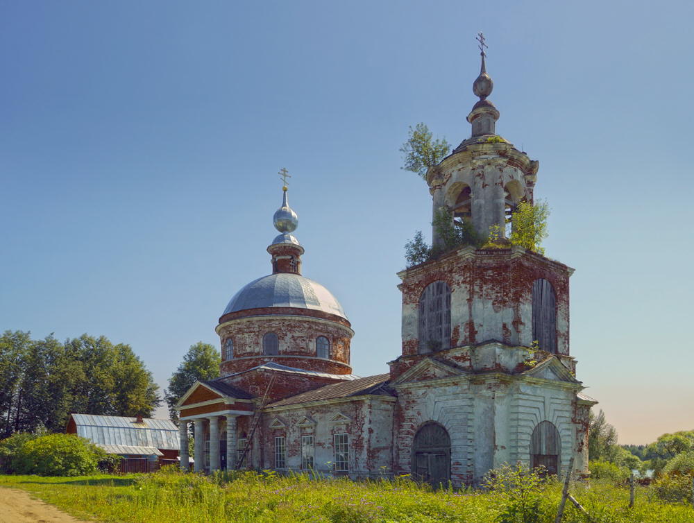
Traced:
<path fill-rule="evenodd" d="M 315 470 L 350 477 L 412 474 L 476 485 L 520 461 L 587 473 L 594 400 L 569 351 L 573 269 L 511 245 L 513 213 L 532 203 L 538 162 L 496 135 L 493 83 L 482 70 L 471 137 L 429 169 L 434 222 L 498 240 L 398 273 L 402 347 L 389 372 L 358 377 L 353 330 L 335 296 L 301 273 L 298 218 L 283 201 L 267 248 L 272 273 L 244 286 L 219 318 L 220 377 L 198 381 L 176 409 L 187 468 Z"/>

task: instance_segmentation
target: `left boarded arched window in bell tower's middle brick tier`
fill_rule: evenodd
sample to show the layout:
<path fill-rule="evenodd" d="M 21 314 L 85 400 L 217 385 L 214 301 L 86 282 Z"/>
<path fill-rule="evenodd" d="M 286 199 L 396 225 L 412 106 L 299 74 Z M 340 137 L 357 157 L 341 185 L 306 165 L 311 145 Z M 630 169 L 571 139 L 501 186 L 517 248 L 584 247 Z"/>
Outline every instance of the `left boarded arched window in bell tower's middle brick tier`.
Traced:
<path fill-rule="evenodd" d="M 450 287 L 433 282 L 419 299 L 419 353 L 450 348 Z"/>

